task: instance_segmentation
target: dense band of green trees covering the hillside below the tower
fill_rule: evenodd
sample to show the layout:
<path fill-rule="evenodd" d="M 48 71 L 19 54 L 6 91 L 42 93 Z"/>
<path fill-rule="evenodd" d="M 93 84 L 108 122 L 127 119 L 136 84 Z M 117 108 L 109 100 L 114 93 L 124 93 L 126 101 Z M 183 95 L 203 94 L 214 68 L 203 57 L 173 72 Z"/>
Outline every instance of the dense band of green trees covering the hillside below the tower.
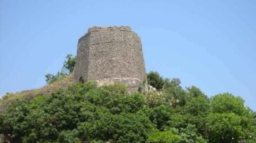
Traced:
<path fill-rule="evenodd" d="M 51 96 L 19 98 L 0 114 L 0 133 L 10 142 L 255 142 L 255 113 L 240 97 L 209 99 L 177 78 L 165 83 L 145 94 L 75 83 Z"/>

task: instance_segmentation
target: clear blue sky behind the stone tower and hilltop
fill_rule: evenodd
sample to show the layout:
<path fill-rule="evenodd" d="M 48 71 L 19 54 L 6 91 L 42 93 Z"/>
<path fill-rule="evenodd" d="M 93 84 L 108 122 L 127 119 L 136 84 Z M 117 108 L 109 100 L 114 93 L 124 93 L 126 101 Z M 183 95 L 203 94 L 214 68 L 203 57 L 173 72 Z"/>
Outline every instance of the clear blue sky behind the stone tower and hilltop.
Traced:
<path fill-rule="evenodd" d="M 0 0 L 0 95 L 46 85 L 91 26 L 129 25 L 147 72 L 256 111 L 256 1 Z"/>

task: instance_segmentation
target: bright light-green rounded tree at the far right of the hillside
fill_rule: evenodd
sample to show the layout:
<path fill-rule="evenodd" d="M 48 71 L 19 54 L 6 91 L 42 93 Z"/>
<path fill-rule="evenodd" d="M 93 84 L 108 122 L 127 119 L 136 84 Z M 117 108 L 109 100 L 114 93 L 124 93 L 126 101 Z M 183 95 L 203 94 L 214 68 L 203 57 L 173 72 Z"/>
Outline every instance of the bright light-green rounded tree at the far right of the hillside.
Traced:
<path fill-rule="evenodd" d="M 218 94 L 210 99 L 207 118 L 210 142 L 232 142 L 234 138 L 254 136 L 253 111 L 244 107 L 244 100 L 232 94 Z"/>

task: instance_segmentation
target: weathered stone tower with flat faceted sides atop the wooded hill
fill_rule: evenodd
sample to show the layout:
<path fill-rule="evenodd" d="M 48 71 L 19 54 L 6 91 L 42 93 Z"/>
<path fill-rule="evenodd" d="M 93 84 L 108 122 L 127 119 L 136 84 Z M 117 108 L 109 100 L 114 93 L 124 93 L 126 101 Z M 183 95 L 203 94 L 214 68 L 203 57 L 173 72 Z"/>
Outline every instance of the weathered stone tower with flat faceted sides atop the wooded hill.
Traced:
<path fill-rule="evenodd" d="M 127 26 L 89 28 L 77 44 L 75 80 L 122 83 L 134 92 L 146 80 L 140 37 Z"/>

